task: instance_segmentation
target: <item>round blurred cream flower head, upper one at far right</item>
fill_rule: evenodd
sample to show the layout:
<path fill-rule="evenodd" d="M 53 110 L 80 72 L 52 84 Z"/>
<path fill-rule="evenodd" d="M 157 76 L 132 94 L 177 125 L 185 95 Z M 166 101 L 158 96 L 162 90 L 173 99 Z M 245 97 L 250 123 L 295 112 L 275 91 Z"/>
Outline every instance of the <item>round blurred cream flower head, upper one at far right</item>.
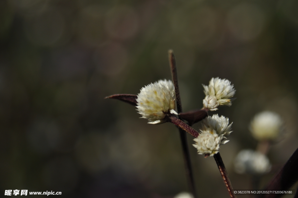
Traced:
<path fill-rule="evenodd" d="M 254 116 L 250 131 L 257 140 L 273 140 L 281 131 L 283 120 L 277 113 L 263 111 Z"/>

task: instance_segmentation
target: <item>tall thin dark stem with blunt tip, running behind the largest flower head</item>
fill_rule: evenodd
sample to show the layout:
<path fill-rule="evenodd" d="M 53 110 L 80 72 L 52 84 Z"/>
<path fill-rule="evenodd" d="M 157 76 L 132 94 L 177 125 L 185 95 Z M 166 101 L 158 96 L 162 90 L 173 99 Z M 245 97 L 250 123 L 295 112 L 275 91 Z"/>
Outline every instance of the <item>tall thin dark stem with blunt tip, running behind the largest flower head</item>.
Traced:
<path fill-rule="evenodd" d="M 177 112 L 179 114 L 182 112 L 182 105 L 181 105 L 180 92 L 179 92 L 176 59 L 175 59 L 173 50 L 169 50 L 168 53 L 169 53 L 169 62 L 170 62 L 172 79 L 173 79 L 173 83 L 174 83 L 174 87 L 175 87 Z M 180 116 L 178 116 L 178 117 L 180 120 L 182 120 Z M 180 140 L 181 140 L 182 151 L 183 151 L 183 156 L 184 156 L 184 167 L 185 167 L 188 186 L 189 186 L 190 191 L 192 192 L 193 196 L 195 198 L 197 198 L 198 196 L 195 191 L 193 170 L 191 168 L 190 154 L 189 154 L 188 145 L 187 145 L 187 135 L 181 128 L 179 128 L 179 134 L 180 134 Z"/>

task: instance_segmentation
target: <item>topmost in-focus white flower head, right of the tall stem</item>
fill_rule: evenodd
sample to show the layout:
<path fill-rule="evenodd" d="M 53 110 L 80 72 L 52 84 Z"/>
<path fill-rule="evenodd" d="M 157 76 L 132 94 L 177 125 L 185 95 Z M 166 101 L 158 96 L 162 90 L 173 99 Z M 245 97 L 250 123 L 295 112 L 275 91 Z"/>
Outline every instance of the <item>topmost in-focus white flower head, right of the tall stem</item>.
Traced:
<path fill-rule="evenodd" d="M 203 100 L 205 109 L 215 111 L 219 105 L 232 105 L 230 98 L 235 95 L 236 90 L 229 80 L 211 78 L 209 86 L 203 85 L 203 87 L 206 95 Z"/>

